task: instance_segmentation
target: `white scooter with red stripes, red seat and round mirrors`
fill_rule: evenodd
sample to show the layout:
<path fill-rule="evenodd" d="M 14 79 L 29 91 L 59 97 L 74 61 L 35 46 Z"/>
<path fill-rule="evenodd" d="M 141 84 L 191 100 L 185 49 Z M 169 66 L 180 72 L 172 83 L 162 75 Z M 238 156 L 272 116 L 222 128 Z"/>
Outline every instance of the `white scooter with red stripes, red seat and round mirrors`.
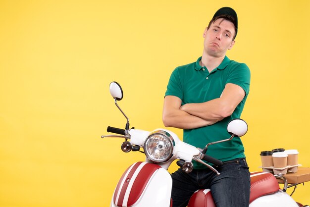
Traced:
<path fill-rule="evenodd" d="M 129 128 L 129 119 L 118 106 L 117 101 L 123 98 L 123 91 L 117 82 L 110 84 L 110 94 L 115 105 L 126 117 L 125 129 L 107 127 L 107 132 L 120 135 L 105 135 L 105 137 L 124 138 L 121 150 L 125 153 L 143 149 L 146 155 L 144 162 L 133 163 L 120 178 L 110 207 L 172 207 L 171 187 L 172 179 L 167 171 L 175 159 L 185 172 L 193 170 L 192 160 L 200 162 L 210 168 L 214 173 L 219 172 L 208 163 L 222 165 L 222 161 L 206 155 L 208 146 L 220 142 L 227 142 L 234 136 L 241 137 L 246 134 L 248 125 L 242 119 L 229 122 L 227 131 L 231 134 L 229 139 L 207 144 L 206 148 L 199 149 L 182 142 L 178 136 L 167 129 L 155 129 L 152 132 Z M 130 141 L 127 141 L 127 140 Z M 140 151 L 142 152 L 142 151 Z M 203 161 L 205 160 L 205 161 Z M 284 181 L 281 190 L 277 178 Z M 287 193 L 288 184 L 283 176 L 276 176 L 266 172 L 251 173 L 250 207 L 309 207 L 296 203 Z M 193 194 L 188 207 L 215 207 L 209 189 L 201 189 Z"/>

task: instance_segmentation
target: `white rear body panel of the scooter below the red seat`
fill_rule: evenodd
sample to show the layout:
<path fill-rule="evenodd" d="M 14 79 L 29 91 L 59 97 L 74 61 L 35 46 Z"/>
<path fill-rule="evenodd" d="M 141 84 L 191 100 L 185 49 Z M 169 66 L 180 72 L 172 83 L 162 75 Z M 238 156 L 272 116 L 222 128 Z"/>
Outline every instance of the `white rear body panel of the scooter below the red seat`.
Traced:
<path fill-rule="evenodd" d="M 249 207 L 299 207 L 298 204 L 287 193 L 277 193 L 259 197 Z"/>

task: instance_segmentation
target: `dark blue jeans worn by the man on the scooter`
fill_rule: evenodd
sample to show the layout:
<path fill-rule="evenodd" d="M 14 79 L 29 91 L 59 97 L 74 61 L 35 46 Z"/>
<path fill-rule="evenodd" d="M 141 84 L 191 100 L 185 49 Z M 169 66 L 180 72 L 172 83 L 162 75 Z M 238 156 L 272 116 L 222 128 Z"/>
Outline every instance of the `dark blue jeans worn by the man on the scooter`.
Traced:
<path fill-rule="evenodd" d="M 250 172 L 245 158 L 215 167 L 185 173 L 179 168 L 171 174 L 173 207 L 186 207 L 196 190 L 211 189 L 216 207 L 249 207 Z"/>

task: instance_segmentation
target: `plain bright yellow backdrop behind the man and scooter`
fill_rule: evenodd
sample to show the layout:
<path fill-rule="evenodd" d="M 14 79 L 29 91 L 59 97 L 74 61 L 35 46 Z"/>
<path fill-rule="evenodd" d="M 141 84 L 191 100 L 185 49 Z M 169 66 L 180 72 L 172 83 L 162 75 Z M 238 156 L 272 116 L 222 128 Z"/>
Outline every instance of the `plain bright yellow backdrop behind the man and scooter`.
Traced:
<path fill-rule="evenodd" d="M 100 138 L 126 122 L 109 83 L 122 85 L 132 126 L 163 127 L 168 78 L 202 54 L 222 6 L 239 16 L 227 55 L 252 72 L 250 170 L 275 148 L 298 149 L 309 167 L 309 0 L 0 0 L 0 206 L 109 206 L 123 171 L 144 158 Z M 309 205 L 309 192 L 305 183 L 293 198 Z"/>

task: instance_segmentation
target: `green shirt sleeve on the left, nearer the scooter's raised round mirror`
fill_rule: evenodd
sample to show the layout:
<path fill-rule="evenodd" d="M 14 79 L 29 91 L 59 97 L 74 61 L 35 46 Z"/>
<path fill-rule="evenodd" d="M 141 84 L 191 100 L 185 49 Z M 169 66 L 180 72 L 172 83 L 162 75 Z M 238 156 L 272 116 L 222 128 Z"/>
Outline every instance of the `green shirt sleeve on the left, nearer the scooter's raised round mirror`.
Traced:
<path fill-rule="evenodd" d="M 183 99 L 183 87 L 178 68 L 175 68 L 170 76 L 165 96 L 176 96 Z"/>

